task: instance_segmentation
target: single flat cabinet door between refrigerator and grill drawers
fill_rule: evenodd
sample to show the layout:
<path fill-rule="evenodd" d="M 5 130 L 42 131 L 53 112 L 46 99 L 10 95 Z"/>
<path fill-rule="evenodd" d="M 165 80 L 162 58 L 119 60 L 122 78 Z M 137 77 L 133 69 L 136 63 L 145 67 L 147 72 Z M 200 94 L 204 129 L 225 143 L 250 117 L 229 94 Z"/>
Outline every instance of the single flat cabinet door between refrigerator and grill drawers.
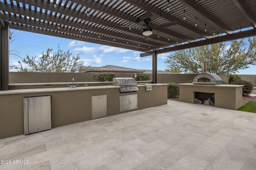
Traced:
<path fill-rule="evenodd" d="M 107 95 L 92 96 L 92 119 L 107 116 Z"/>

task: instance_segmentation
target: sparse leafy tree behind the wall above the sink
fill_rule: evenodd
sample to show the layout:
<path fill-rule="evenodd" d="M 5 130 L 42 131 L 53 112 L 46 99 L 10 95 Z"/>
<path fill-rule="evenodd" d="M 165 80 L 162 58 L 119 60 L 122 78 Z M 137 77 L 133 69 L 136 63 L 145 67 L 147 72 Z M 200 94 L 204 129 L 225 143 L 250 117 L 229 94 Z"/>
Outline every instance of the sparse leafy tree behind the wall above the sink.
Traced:
<path fill-rule="evenodd" d="M 22 59 L 22 62 L 18 61 L 20 67 L 15 66 L 18 72 L 78 72 L 83 66 L 84 62 L 79 61 L 80 57 L 72 56 L 72 53 L 61 50 L 58 46 L 58 52 L 50 54 L 52 49 L 48 48 L 46 53 L 42 53 L 42 57 L 32 57 L 28 55 Z M 28 65 L 28 68 L 24 68 L 23 64 Z"/>

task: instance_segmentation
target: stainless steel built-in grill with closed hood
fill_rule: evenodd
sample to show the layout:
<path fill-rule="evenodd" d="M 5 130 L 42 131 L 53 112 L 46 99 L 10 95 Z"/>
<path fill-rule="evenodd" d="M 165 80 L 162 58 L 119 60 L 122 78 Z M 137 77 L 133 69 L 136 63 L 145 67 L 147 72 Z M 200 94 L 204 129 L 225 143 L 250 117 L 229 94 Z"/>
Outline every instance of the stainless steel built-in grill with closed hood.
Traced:
<path fill-rule="evenodd" d="M 120 86 L 120 93 L 136 92 L 139 90 L 134 78 L 113 78 L 112 86 Z"/>

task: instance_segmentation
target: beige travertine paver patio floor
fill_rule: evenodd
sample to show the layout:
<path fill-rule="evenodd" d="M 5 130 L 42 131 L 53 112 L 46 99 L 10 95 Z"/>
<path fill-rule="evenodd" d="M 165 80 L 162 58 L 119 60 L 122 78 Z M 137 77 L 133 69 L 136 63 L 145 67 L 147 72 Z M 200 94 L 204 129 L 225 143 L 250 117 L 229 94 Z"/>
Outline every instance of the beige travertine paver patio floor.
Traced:
<path fill-rule="evenodd" d="M 0 139 L 0 160 L 11 163 L 1 170 L 255 170 L 256 114 L 168 100 Z"/>

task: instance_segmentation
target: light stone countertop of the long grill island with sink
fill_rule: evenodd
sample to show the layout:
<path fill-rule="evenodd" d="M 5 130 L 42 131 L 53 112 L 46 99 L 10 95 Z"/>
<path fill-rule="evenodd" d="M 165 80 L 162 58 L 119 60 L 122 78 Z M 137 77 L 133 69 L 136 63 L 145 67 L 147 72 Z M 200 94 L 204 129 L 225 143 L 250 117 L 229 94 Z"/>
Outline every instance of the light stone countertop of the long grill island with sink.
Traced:
<path fill-rule="evenodd" d="M 76 83 L 77 84 L 77 83 Z M 162 86 L 168 84 L 150 84 L 152 86 Z M 145 84 L 138 84 L 138 87 L 146 86 Z M 22 94 L 22 93 L 42 93 L 42 92 L 60 92 L 60 91 L 71 91 L 71 90 L 94 90 L 94 89 L 105 89 L 105 88 L 120 88 L 119 86 L 84 86 L 84 87 L 62 87 L 62 88 L 33 88 L 33 89 L 17 89 L 17 90 L 2 90 L 0 95 L 4 94 Z"/>

